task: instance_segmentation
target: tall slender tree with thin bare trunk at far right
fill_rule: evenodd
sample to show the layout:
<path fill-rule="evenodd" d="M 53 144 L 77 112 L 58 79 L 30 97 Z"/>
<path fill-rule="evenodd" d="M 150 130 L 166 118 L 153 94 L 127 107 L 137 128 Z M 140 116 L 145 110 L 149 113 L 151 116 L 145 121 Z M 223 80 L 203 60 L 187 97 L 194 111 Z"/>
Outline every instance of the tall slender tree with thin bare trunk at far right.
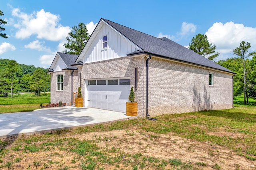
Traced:
<path fill-rule="evenodd" d="M 239 47 L 236 47 L 235 49 L 233 49 L 233 54 L 240 57 L 240 59 L 242 59 L 242 63 L 243 63 L 244 105 L 246 105 L 246 96 L 248 98 L 247 91 L 246 91 L 246 59 L 249 56 L 252 56 L 255 54 L 255 53 L 249 53 L 248 55 L 246 55 L 248 53 L 248 49 L 250 49 L 250 47 L 251 47 L 250 43 L 242 41 L 242 43 L 240 43 Z"/>

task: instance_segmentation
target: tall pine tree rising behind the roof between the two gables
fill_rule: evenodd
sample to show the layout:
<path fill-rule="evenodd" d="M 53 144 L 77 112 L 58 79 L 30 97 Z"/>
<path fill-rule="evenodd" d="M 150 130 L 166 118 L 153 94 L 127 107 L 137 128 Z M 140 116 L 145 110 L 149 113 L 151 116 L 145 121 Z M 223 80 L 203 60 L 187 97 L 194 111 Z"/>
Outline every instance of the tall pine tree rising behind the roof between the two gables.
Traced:
<path fill-rule="evenodd" d="M 84 23 L 79 23 L 78 27 L 72 27 L 72 31 L 68 33 L 68 35 L 69 36 L 66 37 L 68 43 L 64 44 L 66 50 L 63 52 L 79 55 L 87 40 L 89 39 L 89 33 L 87 31 L 86 25 Z"/>

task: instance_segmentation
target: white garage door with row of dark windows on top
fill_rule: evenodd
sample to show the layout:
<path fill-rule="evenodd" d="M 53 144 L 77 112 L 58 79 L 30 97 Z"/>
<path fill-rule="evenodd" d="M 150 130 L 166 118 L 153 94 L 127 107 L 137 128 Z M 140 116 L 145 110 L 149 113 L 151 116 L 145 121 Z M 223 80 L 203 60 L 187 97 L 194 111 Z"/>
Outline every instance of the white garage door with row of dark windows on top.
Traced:
<path fill-rule="evenodd" d="M 130 79 L 86 80 L 89 107 L 126 113 L 130 94 Z"/>

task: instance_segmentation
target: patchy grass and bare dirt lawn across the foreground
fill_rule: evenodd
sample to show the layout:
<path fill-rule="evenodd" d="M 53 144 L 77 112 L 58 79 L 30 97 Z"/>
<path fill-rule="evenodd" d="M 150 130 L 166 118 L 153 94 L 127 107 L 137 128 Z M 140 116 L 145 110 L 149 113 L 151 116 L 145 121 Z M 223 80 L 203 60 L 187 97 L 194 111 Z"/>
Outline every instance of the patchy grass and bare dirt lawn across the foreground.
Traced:
<path fill-rule="evenodd" d="M 162 115 L 0 141 L 2 169 L 255 169 L 256 107 Z"/>

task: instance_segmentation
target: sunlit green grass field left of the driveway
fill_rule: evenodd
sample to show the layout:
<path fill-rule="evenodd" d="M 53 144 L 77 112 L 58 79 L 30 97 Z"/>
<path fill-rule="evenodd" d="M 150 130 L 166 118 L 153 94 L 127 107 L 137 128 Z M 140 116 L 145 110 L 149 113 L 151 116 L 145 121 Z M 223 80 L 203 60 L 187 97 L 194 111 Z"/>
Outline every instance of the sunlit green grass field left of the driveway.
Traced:
<path fill-rule="evenodd" d="M 35 96 L 35 94 L 15 94 L 12 98 L 0 97 L 0 113 L 33 111 L 40 108 L 40 103 L 48 104 L 50 102 L 50 93 Z"/>

